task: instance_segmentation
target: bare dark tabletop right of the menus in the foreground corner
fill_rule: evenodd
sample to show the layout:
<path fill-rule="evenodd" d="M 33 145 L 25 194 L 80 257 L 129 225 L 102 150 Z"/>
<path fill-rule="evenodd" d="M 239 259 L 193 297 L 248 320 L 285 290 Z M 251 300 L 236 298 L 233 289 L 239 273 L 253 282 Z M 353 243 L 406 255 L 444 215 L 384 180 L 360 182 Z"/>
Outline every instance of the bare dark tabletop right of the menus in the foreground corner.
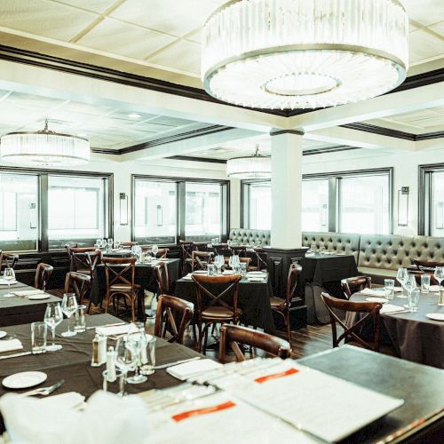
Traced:
<path fill-rule="evenodd" d="M 313 354 L 297 362 L 375 392 L 404 400 L 404 405 L 400 408 L 346 438 L 344 442 L 347 444 L 385 442 L 384 439 L 392 433 L 427 416 L 432 416 L 433 423 L 426 431 L 432 433 L 431 429 L 434 429 L 434 434 L 427 437 L 422 435 L 416 440 L 412 437 L 408 442 L 442 442 L 444 418 L 439 412 L 444 409 L 443 371 L 362 350 L 352 345 Z M 340 396 L 340 393 L 337 396 Z"/>

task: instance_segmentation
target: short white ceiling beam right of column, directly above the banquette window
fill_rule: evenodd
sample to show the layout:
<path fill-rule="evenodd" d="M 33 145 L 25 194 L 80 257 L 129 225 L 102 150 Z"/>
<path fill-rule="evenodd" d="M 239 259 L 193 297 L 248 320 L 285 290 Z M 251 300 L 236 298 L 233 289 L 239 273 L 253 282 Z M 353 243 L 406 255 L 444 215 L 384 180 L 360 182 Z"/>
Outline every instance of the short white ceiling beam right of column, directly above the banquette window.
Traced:
<path fill-rule="evenodd" d="M 324 130 L 305 132 L 304 139 L 331 143 L 332 145 L 349 145 L 368 149 L 390 149 L 393 151 L 415 151 L 415 142 L 395 139 L 364 131 L 348 128 L 326 128 Z"/>

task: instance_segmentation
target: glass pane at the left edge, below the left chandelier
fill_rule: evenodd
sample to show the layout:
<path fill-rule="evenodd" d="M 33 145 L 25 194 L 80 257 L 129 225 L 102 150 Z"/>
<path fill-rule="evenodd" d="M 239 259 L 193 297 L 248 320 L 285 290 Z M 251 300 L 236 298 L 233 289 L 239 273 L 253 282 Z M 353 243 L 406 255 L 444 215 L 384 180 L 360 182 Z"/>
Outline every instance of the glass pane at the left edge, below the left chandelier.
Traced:
<path fill-rule="evenodd" d="M 37 250 L 38 178 L 0 174 L 0 250 Z"/>

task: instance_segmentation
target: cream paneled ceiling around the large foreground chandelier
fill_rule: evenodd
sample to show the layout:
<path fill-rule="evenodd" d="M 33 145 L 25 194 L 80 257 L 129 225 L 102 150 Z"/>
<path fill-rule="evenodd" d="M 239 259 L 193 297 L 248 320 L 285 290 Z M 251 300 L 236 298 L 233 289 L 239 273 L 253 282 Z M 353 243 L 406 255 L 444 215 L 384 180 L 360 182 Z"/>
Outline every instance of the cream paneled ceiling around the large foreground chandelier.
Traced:
<path fill-rule="evenodd" d="M 200 31 L 226 0 L 2 0 L 3 31 L 125 58 L 185 76 L 200 72 Z M 444 1 L 401 0 L 410 63 L 444 55 Z"/>

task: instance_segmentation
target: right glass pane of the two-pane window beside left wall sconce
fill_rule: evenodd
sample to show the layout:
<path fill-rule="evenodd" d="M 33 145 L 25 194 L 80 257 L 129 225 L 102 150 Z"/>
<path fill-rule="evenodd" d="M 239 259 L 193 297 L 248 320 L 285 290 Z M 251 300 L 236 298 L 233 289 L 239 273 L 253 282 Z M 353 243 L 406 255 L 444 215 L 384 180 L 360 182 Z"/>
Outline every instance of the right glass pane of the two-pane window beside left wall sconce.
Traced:
<path fill-rule="evenodd" d="M 186 240 L 207 241 L 219 237 L 221 226 L 222 186 L 186 182 Z"/>

